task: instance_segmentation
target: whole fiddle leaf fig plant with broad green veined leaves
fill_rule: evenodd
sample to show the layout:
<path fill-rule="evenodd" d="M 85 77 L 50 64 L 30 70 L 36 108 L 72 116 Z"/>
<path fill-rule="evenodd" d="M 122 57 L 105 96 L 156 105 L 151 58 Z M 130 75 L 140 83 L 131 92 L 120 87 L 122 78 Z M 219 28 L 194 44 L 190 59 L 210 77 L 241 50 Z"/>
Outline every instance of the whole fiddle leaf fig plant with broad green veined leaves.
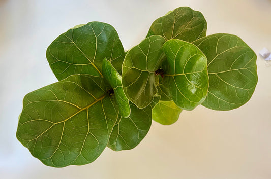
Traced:
<path fill-rule="evenodd" d="M 242 106 L 258 81 L 256 54 L 235 35 L 206 30 L 200 12 L 179 7 L 125 52 L 109 24 L 70 28 L 46 52 L 59 81 L 23 99 L 18 140 L 45 165 L 84 165 L 106 147 L 133 149 L 152 120 L 170 125 L 200 104 Z"/>

